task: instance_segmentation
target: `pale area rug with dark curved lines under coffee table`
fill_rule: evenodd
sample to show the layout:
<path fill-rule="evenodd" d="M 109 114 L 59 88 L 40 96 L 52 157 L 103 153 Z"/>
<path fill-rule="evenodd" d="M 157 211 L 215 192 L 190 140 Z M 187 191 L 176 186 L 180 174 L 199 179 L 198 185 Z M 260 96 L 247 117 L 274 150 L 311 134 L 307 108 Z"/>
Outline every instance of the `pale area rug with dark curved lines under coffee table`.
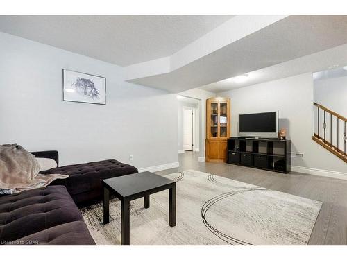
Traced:
<path fill-rule="evenodd" d="M 169 191 L 130 202 L 130 245 L 307 245 L 322 203 L 198 171 L 177 180 L 176 227 L 169 227 Z M 97 245 L 121 243 L 121 202 L 81 209 Z"/>

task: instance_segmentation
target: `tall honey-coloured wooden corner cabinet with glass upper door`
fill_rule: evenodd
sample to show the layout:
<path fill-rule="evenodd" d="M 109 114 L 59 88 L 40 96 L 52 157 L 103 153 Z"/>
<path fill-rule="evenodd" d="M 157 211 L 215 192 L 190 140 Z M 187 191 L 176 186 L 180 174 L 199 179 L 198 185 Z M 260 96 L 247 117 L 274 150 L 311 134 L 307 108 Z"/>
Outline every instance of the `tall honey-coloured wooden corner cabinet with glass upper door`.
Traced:
<path fill-rule="evenodd" d="M 206 100 L 206 162 L 227 161 L 230 112 L 230 98 L 217 97 Z"/>

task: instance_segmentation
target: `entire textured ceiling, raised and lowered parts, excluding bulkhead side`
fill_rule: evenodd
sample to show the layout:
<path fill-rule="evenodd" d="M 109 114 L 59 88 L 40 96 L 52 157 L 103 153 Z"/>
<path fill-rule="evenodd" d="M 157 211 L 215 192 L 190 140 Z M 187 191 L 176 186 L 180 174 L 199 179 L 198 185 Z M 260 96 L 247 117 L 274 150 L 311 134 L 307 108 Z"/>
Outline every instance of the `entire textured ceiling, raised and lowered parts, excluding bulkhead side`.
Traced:
<path fill-rule="evenodd" d="M 229 28 L 228 23 L 238 16 L 232 17 L 0 15 L 0 31 L 128 66 L 163 57 L 169 60 L 194 41 L 199 45 L 196 49 L 209 46 L 208 42 L 201 40 L 202 36 L 210 35 L 211 31 L 216 32 L 223 26 Z M 251 22 L 254 24 L 257 21 L 251 17 Z M 345 65 L 346 24 L 346 15 L 291 15 L 189 60 L 177 69 L 153 73 L 152 76 L 134 76 L 128 81 L 170 92 L 194 87 L 223 92 L 299 73 L 322 71 L 332 64 Z M 235 30 L 242 31 L 245 24 L 239 22 L 236 27 Z M 213 37 L 214 42 L 223 40 L 224 35 L 222 39 Z M 142 69 L 139 67 L 138 70 Z M 243 73 L 249 74 L 244 83 L 228 80 Z"/>

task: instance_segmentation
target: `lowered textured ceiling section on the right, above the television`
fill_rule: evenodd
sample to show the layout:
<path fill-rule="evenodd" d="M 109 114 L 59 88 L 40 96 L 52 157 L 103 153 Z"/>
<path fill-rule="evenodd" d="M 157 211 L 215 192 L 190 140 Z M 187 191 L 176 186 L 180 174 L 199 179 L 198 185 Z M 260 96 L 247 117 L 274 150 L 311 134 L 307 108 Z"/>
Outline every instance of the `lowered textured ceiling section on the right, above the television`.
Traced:
<path fill-rule="evenodd" d="M 175 71 L 128 81 L 171 92 L 182 92 L 194 87 L 222 92 L 260 83 L 264 78 L 271 78 L 271 75 L 266 74 L 266 77 L 257 80 L 251 80 L 254 78 L 250 76 L 250 80 L 244 84 L 219 80 L 346 44 L 346 24 L 347 15 L 291 15 Z M 345 53 L 340 55 L 344 56 Z M 327 57 L 325 60 L 328 62 Z M 291 74 L 294 71 L 304 73 L 312 65 L 300 67 L 301 71 L 289 66 L 285 68 L 289 73 L 282 74 L 291 76 L 295 75 Z M 329 65 L 327 63 L 326 67 Z"/>

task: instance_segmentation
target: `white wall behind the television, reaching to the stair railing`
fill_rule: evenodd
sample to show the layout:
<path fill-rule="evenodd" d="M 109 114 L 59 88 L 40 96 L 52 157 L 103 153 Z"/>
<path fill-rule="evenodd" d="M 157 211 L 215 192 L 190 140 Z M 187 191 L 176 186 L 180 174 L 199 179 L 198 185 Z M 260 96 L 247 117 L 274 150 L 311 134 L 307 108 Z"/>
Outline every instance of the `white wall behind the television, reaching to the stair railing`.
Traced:
<path fill-rule="evenodd" d="M 280 128 L 287 128 L 291 150 L 304 153 L 303 158 L 291 157 L 292 171 L 321 175 L 334 171 L 332 177 L 347 177 L 347 164 L 312 141 L 312 73 L 233 89 L 219 95 L 231 98 L 232 136 L 237 135 L 239 114 L 279 110 Z"/>

